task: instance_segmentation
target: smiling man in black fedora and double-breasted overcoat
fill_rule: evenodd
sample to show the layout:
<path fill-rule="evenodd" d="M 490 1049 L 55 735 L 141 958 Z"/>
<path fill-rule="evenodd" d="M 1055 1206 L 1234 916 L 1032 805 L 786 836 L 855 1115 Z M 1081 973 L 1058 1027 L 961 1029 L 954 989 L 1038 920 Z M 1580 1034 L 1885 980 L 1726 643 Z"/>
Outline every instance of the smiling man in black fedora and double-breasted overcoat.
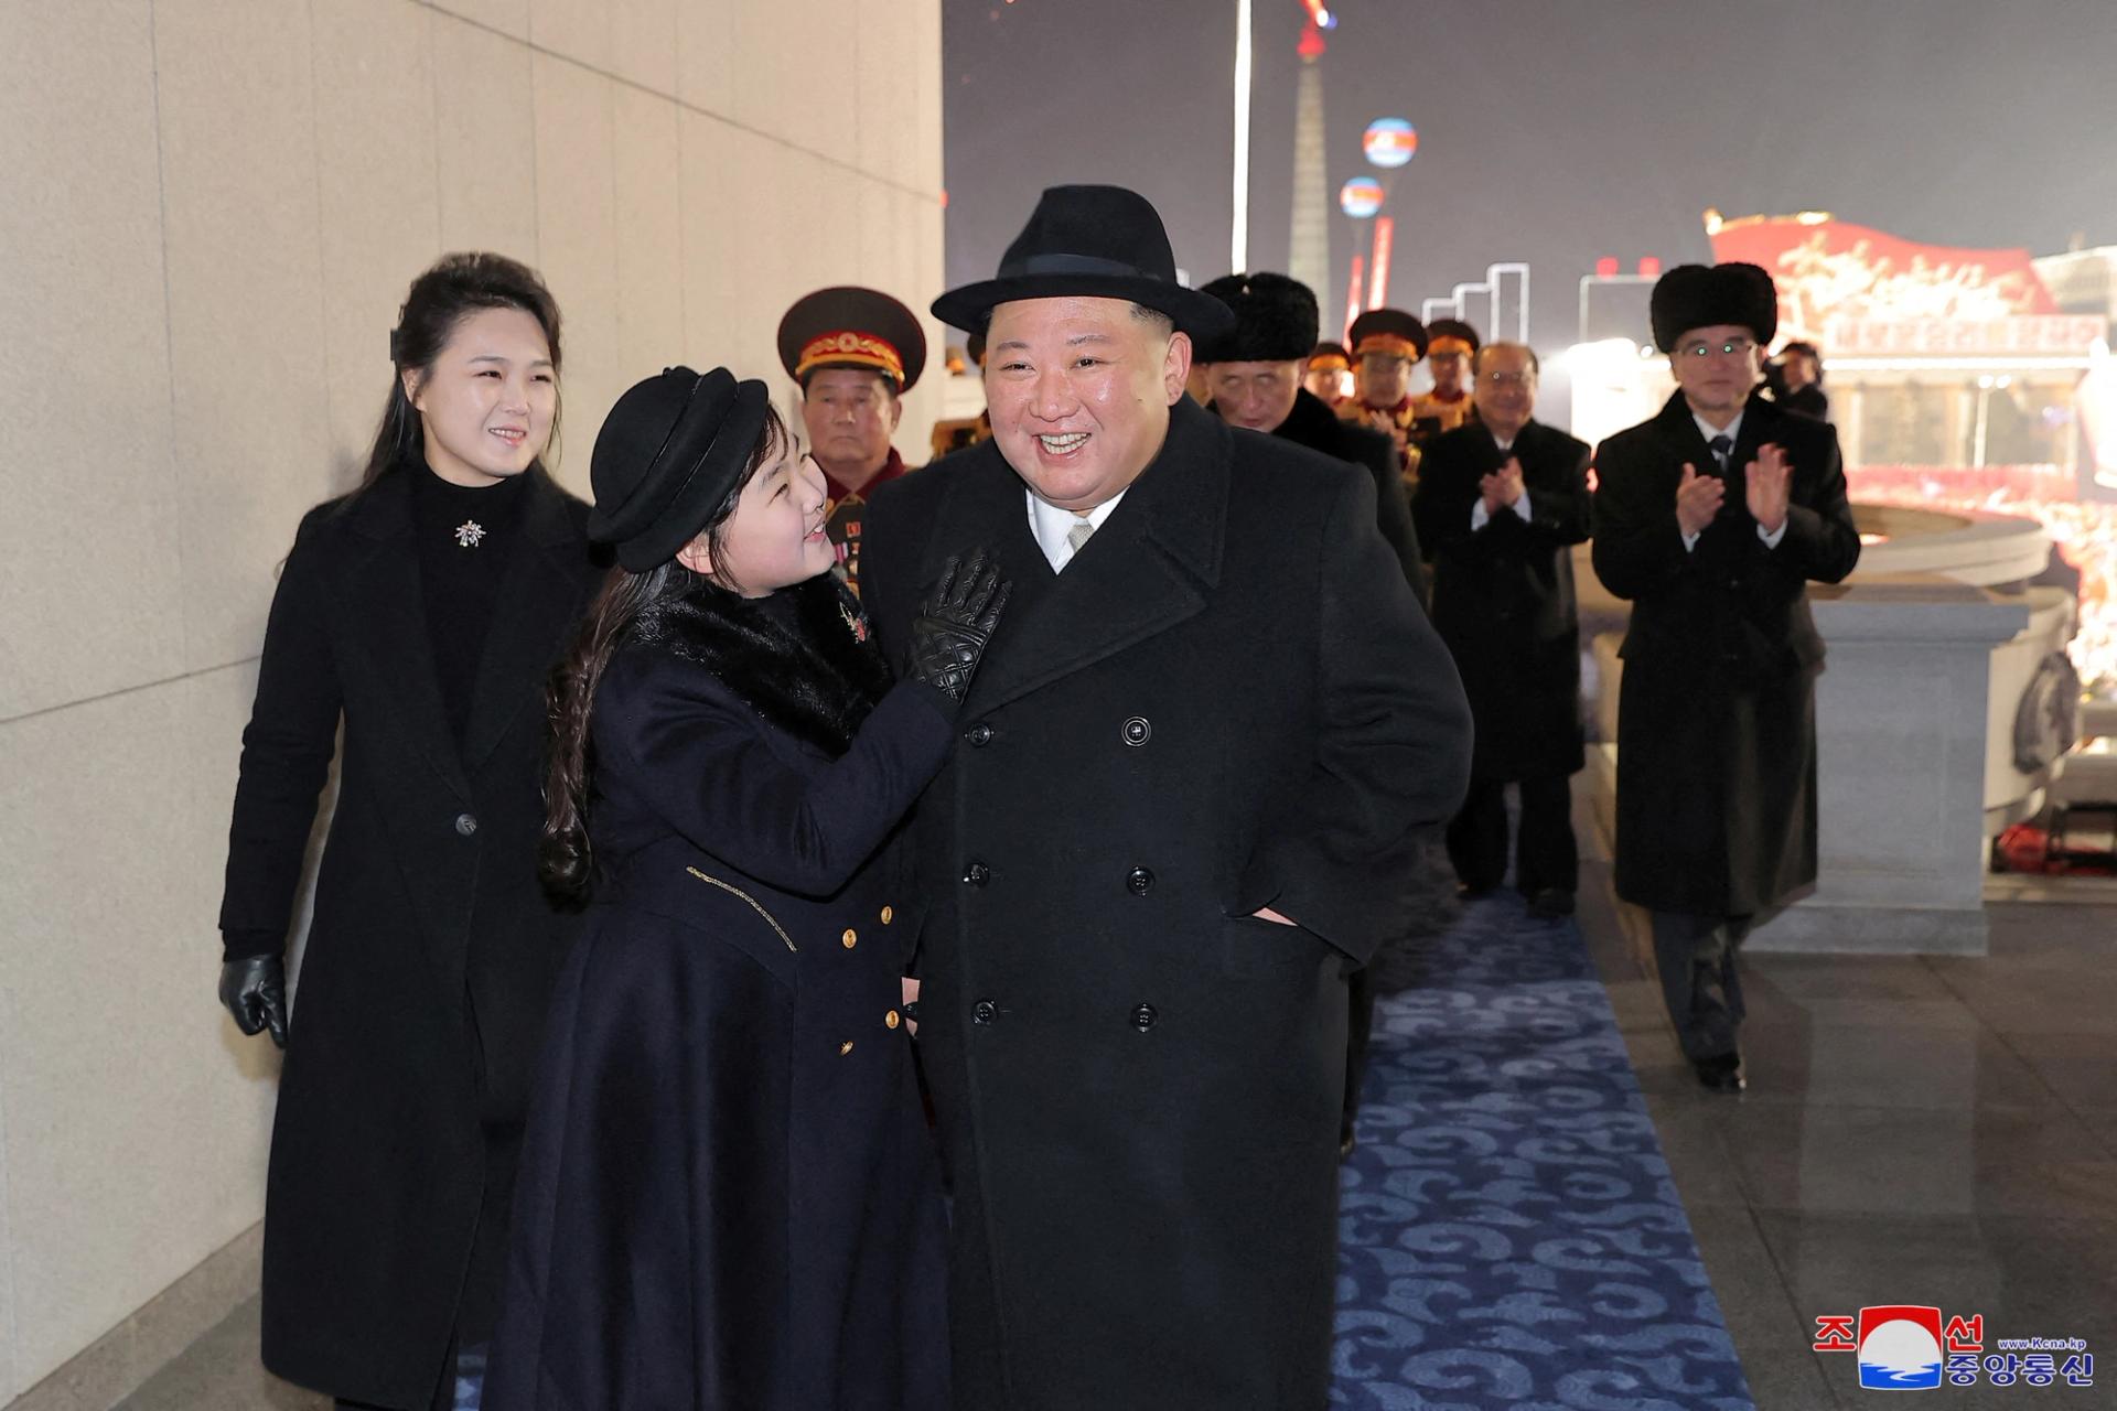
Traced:
<path fill-rule="evenodd" d="M 1183 396 L 1230 315 L 1143 197 L 1046 190 L 934 313 L 993 440 L 874 499 L 868 603 L 902 654 L 989 544 L 1016 624 L 915 821 L 957 1405 L 1321 1407 L 1344 973 L 1461 798 L 1454 668 L 1372 478 Z"/>

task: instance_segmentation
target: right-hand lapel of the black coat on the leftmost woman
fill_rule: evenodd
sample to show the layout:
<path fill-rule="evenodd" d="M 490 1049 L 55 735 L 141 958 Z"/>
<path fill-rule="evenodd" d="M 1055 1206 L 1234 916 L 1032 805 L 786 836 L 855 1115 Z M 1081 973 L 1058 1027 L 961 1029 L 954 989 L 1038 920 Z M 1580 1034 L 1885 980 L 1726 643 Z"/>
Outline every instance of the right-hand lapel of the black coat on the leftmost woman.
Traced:
<path fill-rule="evenodd" d="M 565 499 L 544 472 L 529 472 L 523 503 L 523 542 L 500 575 L 500 601 L 485 630 L 478 681 L 464 726 L 464 770 L 478 772 L 514 719 L 542 707 L 544 675 L 559 658 L 578 613 L 580 535 L 565 514 Z"/>

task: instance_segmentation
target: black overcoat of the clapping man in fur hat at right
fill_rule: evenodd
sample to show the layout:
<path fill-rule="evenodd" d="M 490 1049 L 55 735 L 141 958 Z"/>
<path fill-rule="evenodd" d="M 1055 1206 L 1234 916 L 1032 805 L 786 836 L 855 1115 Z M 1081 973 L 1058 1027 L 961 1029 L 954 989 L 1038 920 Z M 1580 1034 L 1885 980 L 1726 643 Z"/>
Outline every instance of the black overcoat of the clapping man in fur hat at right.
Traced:
<path fill-rule="evenodd" d="M 1744 468 L 1776 442 L 1793 465 L 1787 533 L 1757 535 Z M 1617 895 L 1658 912 L 1755 916 L 1816 876 L 1808 582 L 1859 563 L 1838 432 L 1751 398 L 1727 495 L 1696 548 L 1677 527 L 1683 465 L 1713 472 L 1677 391 L 1596 448 L 1594 571 L 1632 601 L 1617 692 Z"/>

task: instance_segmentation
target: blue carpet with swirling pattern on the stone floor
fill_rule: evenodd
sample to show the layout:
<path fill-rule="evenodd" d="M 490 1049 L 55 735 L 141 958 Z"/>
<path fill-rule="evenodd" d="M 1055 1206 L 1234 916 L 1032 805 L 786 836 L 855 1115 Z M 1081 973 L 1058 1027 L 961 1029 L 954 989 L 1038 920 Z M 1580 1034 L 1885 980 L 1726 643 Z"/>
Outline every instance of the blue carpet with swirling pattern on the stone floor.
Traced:
<path fill-rule="evenodd" d="M 1433 931 L 1376 969 L 1332 1405 L 1753 1411 L 1579 931 Z"/>

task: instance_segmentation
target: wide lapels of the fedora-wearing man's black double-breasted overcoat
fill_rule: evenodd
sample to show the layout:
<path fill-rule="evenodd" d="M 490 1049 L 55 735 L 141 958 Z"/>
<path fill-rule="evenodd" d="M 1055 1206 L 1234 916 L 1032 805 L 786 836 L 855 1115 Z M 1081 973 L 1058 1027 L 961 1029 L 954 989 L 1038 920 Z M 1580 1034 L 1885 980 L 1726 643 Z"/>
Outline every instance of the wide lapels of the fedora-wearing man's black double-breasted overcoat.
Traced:
<path fill-rule="evenodd" d="M 1217 417 L 1177 402 L 1160 455 L 1056 578 L 1029 535 L 1020 480 L 1012 472 L 987 476 L 1003 487 L 1020 542 L 1048 582 L 1001 630 L 972 683 L 970 709 L 1001 707 L 1202 611 L 1219 582 L 1230 453 L 1230 432 Z M 970 546 L 967 537 L 951 539 L 944 552 Z M 1023 578 L 1016 573 L 1016 592 Z"/>

